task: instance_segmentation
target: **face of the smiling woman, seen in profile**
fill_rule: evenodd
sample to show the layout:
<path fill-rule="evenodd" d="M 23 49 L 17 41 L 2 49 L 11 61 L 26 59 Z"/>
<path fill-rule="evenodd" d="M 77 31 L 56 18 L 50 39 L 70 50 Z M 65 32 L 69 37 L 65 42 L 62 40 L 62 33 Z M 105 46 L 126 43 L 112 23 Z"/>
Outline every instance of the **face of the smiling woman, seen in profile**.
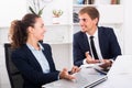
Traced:
<path fill-rule="evenodd" d="M 46 32 L 44 22 L 42 18 L 37 18 L 32 30 L 32 35 L 36 41 L 42 41 L 44 38 L 44 33 Z"/>

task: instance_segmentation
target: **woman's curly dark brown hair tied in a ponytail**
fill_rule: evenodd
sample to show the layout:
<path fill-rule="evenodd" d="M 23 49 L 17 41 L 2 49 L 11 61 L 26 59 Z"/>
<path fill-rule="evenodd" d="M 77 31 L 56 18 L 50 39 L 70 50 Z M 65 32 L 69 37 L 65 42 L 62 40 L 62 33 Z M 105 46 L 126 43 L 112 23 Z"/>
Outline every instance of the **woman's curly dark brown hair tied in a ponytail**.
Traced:
<path fill-rule="evenodd" d="M 28 13 L 22 20 L 14 20 L 11 22 L 9 40 L 11 46 L 18 48 L 26 43 L 28 41 L 28 28 L 34 28 L 36 19 L 40 18 L 36 14 Z"/>

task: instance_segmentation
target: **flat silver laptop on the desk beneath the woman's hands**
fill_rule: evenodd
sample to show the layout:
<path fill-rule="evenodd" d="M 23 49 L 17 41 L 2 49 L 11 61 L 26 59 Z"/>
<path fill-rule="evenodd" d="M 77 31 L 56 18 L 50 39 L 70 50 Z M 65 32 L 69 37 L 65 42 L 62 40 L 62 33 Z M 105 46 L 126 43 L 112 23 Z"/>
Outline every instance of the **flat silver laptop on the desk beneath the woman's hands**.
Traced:
<path fill-rule="evenodd" d="M 43 85 L 42 88 L 92 88 L 107 80 L 107 75 L 91 68 L 81 68 L 75 74 L 75 80 L 59 79 L 51 84 Z"/>

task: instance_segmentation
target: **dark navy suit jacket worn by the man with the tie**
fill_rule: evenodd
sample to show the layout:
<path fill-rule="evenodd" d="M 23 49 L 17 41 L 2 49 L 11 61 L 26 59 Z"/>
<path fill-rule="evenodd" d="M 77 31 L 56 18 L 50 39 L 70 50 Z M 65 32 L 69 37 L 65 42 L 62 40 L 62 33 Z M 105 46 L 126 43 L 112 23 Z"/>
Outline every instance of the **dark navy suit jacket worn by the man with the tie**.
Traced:
<path fill-rule="evenodd" d="M 103 58 L 113 58 L 121 55 L 117 36 L 111 28 L 98 28 L 98 37 Z M 85 53 L 90 51 L 88 37 L 81 31 L 74 34 L 74 64 L 80 66 L 86 58 Z"/>

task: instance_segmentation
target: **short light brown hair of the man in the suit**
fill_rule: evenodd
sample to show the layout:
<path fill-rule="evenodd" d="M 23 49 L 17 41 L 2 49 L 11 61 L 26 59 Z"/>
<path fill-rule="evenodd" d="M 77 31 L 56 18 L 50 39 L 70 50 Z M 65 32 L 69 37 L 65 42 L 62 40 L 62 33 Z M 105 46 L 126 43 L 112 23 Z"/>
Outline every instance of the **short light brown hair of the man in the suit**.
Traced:
<path fill-rule="evenodd" d="M 99 11 L 95 7 L 85 7 L 79 11 L 79 14 L 87 13 L 91 20 L 95 20 L 96 18 L 99 21 Z M 98 23 L 97 23 L 98 24 Z"/>

